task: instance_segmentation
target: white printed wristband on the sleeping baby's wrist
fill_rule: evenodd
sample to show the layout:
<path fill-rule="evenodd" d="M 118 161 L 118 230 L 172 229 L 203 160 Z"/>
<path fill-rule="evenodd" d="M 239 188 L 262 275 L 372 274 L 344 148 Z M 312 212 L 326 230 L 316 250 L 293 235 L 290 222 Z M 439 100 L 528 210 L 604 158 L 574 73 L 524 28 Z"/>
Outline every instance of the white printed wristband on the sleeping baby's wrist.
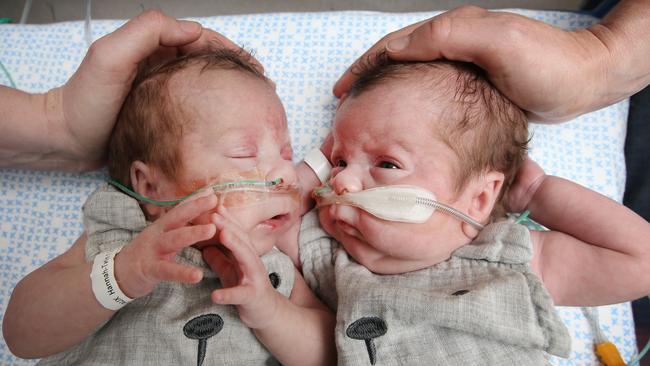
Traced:
<path fill-rule="evenodd" d="M 120 289 L 115 279 L 115 255 L 122 248 L 109 252 L 97 254 L 93 261 L 93 268 L 90 271 L 90 282 L 92 283 L 95 298 L 103 307 L 109 310 L 119 310 L 124 305 L 133 301 Z"/>

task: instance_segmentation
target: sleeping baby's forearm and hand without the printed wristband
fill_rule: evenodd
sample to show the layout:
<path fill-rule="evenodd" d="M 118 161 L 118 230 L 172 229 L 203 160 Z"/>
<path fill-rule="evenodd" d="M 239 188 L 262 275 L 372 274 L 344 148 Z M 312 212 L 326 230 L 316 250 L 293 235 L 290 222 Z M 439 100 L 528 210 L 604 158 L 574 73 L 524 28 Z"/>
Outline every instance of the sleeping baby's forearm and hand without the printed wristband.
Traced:
<path fill-rule="evenodd" d="M 298 270 L 289 299 L 276 291 L 248 236 L 222 207 L 214 215 L 220 242 L 203 250 L 226 288 L 215 290 L 217 304 L 237 306 L 239 317 L 283 365 L 336 364 L 335 316 L 312 294 Z"/>

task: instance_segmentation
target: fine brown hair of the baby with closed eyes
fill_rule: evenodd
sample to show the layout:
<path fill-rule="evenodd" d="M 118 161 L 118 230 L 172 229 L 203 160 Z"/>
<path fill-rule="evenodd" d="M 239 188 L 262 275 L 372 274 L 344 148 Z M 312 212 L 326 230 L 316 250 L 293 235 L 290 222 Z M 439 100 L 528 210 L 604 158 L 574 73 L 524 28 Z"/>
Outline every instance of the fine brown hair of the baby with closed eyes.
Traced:
<path fill-rule="evenodd" d="M 131 163 L 140 160 L 158 167 L 170 178 L 182 170 L 178 141 L 194 128 L 192 111 L 170 93 L 170 80 L 188 66 L 199 73 L 235 70 L 270 83 L 246 51 L 213 48 L 199 51 L 152 68 L 141 68 L 117 118 L 109 142 L 108 171 L 111 178 L 130 187 Z M 198 187 L 197 187 L 198 188 Z"/>

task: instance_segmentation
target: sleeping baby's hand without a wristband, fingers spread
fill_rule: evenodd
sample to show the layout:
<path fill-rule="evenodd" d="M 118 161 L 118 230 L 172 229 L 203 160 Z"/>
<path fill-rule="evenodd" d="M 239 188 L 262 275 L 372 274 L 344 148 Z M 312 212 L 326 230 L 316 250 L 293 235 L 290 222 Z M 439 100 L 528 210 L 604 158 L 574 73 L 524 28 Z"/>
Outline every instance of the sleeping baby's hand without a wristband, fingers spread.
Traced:
<path fill-rule="evenodd" d="M 220 230 L 219 241 L 226 249 L 211 246 L 203 250 L 203 259 L 224 286 L 212 292 L 212 301 L 236 305 L 244 324 L 251 329 L 264 328 L 275 317 L 279 294 L 272 287 L 266 267 L 248 234 L 235 223 L 225 207 L 219 207 L 213 222 Z"/>

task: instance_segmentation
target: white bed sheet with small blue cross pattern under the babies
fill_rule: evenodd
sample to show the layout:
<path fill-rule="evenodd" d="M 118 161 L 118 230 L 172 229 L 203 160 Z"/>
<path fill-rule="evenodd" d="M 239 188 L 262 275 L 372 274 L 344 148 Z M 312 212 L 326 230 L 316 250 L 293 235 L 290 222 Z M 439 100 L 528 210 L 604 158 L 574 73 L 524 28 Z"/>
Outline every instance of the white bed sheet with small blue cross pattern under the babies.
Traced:
<path fill-rule="evenodd" d="M 562 28 L 583 28 L 587 15 L 511 10 Z M 247 49 L 277 83 L 295 158 L 320 144 L 331 125 L 336 100 L 332 86 L 343 71 L 383 35 L 431 17 L 426 13 L 281 13 L 196 18 Z M 124 20 L 92 21 L 92 39 Z M 0 25 L 0 62 L 19 89 L 43 92 L 73 74 L 86 53 L 84 22 Z M 10 85 L 0 74 L 0 83 Z M 623 144 L 628 101 L 558 125 L 532 125 L 531 155 L 547 173 L 594 189 L 618 202 L 625 187 Z M 81 205 L 106 178 L 91 173 L 0 171 L 0 313 L 16 283 L 64 252 L 82 232 Z M 569 327 L 571 357 L 554 365 L 597 365 L 593 333 L 580 308 L 559 308 Z M 637 352 L 629 303 L 598 308 L 601 328 L 625 360 Z M 0 341 L 0 364 L 30 365 Z"/>

